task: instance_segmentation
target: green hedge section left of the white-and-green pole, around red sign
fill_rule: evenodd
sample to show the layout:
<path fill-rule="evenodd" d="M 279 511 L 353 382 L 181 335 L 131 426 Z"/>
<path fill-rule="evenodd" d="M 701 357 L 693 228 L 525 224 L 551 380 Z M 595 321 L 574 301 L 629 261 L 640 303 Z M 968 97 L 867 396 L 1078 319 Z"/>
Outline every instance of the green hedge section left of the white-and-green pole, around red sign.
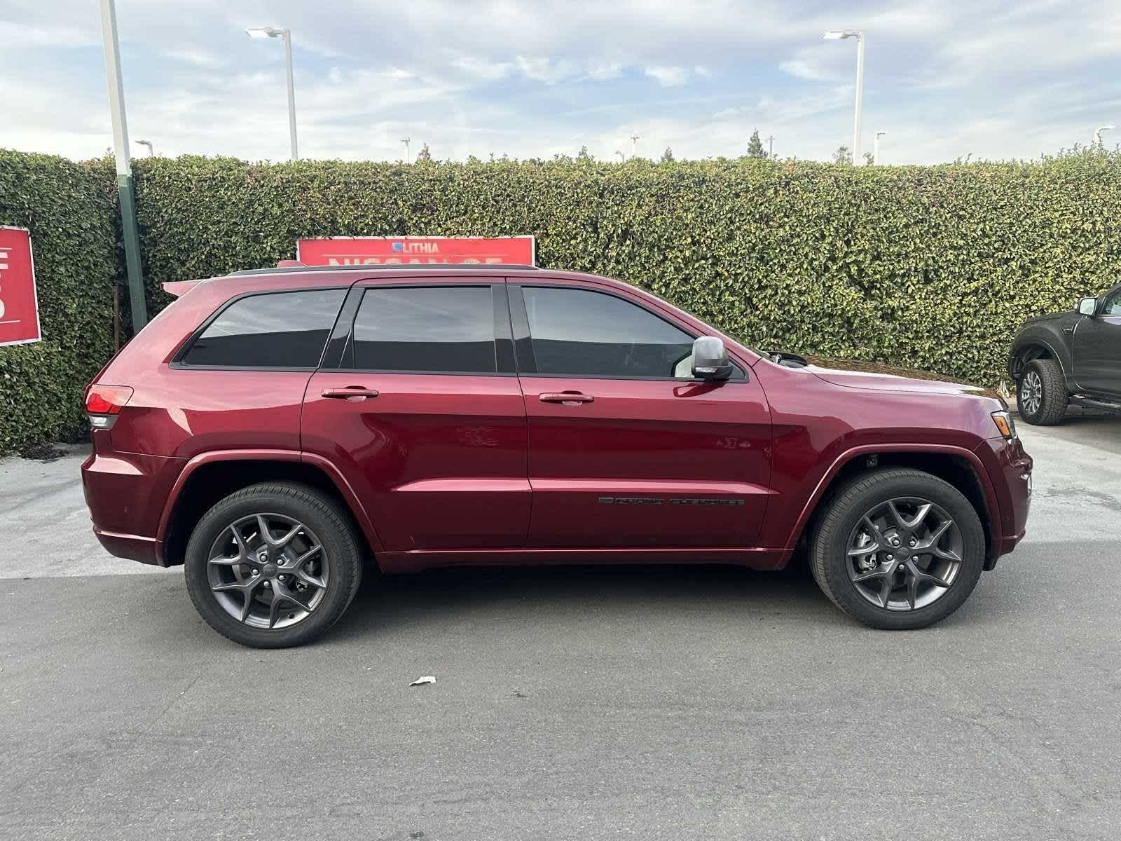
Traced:
<path fill-rule="evenodd" d="M 115 184 L 111 161 L 0 149 L 0 224 L 31 232 L 44 336 L 0 348 L 0 453 L 82 427 L 82 391 L 113 352 Z"/>

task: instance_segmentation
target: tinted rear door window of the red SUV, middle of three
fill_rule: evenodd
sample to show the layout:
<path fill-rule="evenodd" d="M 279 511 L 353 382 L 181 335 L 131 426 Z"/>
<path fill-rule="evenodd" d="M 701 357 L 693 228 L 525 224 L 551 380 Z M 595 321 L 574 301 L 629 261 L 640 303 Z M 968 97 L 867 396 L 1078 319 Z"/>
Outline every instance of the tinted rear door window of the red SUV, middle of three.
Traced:
<path fill-rule="evenodd" d="M 355 368 L 494 373 L 489 286 L 367 289 L 354 318 Z"/>

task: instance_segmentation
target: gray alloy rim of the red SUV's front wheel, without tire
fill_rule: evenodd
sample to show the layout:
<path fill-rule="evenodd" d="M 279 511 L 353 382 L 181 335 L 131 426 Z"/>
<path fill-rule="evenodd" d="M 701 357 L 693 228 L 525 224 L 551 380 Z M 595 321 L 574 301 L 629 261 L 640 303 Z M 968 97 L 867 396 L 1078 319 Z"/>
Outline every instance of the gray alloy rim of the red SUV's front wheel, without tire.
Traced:
<path fill-rule="evenodd" d="M 919 497 L 879 502 L 849 535 L 846 571 L 856 592 L 886 610 L 917 610 L 953 586 L 962 533 L 944 508 Z"/>

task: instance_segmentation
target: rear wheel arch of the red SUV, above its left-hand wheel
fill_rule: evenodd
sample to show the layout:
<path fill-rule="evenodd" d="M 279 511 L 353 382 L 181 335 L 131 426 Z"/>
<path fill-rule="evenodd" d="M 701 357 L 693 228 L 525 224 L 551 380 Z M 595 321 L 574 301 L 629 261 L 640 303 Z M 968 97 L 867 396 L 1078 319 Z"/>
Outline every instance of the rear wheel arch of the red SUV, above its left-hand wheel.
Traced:
<path fill-rule="evenodd" d="M 289 450 L 224 450 L 196 455 L 176 479 L 157 532 L 161 565 L 183 563 L 195 524 L 217 500 L 241 488 L 270 481 L 307 484 L 331 497 L 351 516 L 369 551 L 381 551 L 368 511 L 326 459 Z"/>

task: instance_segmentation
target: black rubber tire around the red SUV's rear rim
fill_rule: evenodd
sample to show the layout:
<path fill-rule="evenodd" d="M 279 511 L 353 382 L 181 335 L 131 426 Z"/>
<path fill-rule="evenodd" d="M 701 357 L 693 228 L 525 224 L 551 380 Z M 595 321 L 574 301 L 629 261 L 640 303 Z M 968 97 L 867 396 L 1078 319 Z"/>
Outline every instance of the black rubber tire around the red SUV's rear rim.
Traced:
<path fill-rule="evenodd" d="M 287 517 L 306 525 L 324 551 L 322 563 L 326 575 L 322 601 L 288 627 L 261 628 L 239 621 L 211 589 L 211 547 L 232 524 L 257 514 Z M 308 486 L 270 482 L 235 491 L 203 515 L 187 542 L 185 576 L 195 609 L 223 637 L 253 648 L 287 648 L 311 641 L 339 621 L 358 592 L 362 552 L 349 514 L 334 500 Z"/>

